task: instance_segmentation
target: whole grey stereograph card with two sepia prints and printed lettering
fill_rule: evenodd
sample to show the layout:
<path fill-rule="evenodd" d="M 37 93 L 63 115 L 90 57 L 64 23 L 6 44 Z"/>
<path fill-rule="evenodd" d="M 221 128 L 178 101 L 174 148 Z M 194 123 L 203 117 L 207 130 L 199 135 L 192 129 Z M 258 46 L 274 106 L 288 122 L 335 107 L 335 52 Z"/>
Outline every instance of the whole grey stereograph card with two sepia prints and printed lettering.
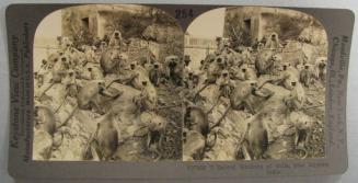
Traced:
<path fill-rule="evenodd" d="M 344 172 L 353 22 L 334 9 L 11 5 L 10 173 Z"/>

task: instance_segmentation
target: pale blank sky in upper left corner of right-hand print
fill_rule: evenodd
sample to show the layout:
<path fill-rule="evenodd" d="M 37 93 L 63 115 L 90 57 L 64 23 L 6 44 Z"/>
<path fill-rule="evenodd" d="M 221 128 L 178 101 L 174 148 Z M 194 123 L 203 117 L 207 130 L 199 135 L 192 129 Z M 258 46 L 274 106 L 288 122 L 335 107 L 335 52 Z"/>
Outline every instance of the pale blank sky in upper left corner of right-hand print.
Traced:
<path fill-rule="evenodd" d="M 188 26 L 189 35 L 201 38 L 216 38 L 223 35 L 226 9 L 215 9 L 196 18 Z"/>

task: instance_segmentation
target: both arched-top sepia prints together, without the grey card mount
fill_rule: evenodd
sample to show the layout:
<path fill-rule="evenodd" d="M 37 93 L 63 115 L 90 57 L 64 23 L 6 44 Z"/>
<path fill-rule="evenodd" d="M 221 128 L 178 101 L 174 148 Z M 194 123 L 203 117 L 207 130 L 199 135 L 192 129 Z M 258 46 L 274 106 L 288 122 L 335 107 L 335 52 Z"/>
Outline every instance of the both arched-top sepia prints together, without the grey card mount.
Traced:
<path fill-rule="evenodd" d="M 187 30 L 149 5 L 57 10 L 34 39 L 33 160 L 324 158 L 327 46 L 315 18 L 279 8 Z"/>

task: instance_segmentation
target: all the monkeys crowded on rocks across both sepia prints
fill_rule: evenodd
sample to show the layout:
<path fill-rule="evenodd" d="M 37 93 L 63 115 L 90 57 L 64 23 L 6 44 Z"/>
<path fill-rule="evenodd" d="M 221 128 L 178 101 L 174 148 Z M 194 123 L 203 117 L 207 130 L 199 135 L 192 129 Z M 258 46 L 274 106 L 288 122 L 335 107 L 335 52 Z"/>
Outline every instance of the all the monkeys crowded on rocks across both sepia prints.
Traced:
<path fill-rule="evenodd" d="M 126 112 L 145 116 L 148 127 L 146 148 L 161 157 L 162 139 L 165 135 L 166 118 L 159 116 L 159 110 L 182 107 L 183 123 L 183 159 L 200 160 L 208 147 L 210 131 L 220 126 L 230 110 L 247 111 L 253 115 L 265 116 L 257 111 L 255 100 L 268 100 L 275 93 L 263 90 L 266 83 L 281 85 L 290 91 L 285 98 L 288 113 L 300 111 L 305 104 L 304 87 L 313 82 L 324 82 L 326 58 L 317 60 L 289 62 L 280 56 L 281 45 L 278 36 L 272 35 L 269 47 L 252 49 L 241 46 L 232 48 L 223 38 L 218 39 L 218 48 L 200 61 L 200 68 L 190 67 L 190 57 L 169 55 L 163 60 L 148 52 L 140 60 L 130 60 L 126 54 L 126 45 L 119 31 L 114 31 L 108 39 L 92 45 L 74 47 L 69 37 L 58 38 L 57 52 L 42 61 L 41 68 L 34 73 L 35 81 L 35 128 L 44 130 L 54 137 L 59 128 L 66 126 L 78 110 L 92 110 L 102 115 L 95 133 L 93 133 L 89 149 L 90 157 L 99 160 L 115 159 L 119 145 L 117 131 L 118 115 Z M 275 43 L 275 44 L 274 44 Z M 274 45 L 274 46 L 273 46 Z M 269 76 L 269 77 L 267 77 Z M 126 91 L 113 92 L 111 85 L 120 83 L 138 91 L 130 99 L 132 106 L 122 106 L 116 110 L 117 99 Z M 56 108 L 43 104 L 48 99 L 48 91 L 55 84 L 65 87 L 65 100 L 74 99 L 73 110 L 63 122 L 56 122 Z M 158 87 L 174 85 L 180 89 L 180 104 L 163 104 L 159 99 Z M 209 85 L 217 85 L 219 95 L 209 112 L 197 105 L 205 100 L 200 93 Z M 230 101 L 222 117 L 213 124 L 209 123 L 209 113 L 220 104 L 222 98 Z M 162 106 L 160 106 L 162 105 Z M 166 106 L 165 106 L 166 105 Z M 298 130 L 299 131 L 299 130 Z M 298 133 L 297 144 L 308 139 L 309 130 Z M 250 159 L 264 158 L 268 146 L 267 129 L 262 123 L 249 124 L 245 140 L 245 151 Z M 55 145 L 54 145 L 55 146 Z M 56 145 L 58 146 L 58 145 Z M 91 148 L 91 146 L 93 146 Z M 86 149 L 88 150 L 88 149 Z M 84 153 L 88 159 L 88 151 Z"/>

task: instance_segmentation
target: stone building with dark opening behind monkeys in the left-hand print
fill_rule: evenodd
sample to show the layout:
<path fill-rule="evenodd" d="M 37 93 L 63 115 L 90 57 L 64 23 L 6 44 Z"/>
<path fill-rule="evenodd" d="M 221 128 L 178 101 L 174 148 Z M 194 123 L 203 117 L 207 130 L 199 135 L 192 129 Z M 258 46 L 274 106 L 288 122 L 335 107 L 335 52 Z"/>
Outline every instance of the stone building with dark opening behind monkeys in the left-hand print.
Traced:
<path fill-rule="evenodd" d="M 90 4 L 61 11 L 62 36 L 93 41 L 118 30 L 129 43 L 129 55 L 138 56 L 138 53 L 148 49 L 163 59 L 166 55 L 183 53 L 182 30 L 174 19 L 159 9 L 134 4 Z"/>

